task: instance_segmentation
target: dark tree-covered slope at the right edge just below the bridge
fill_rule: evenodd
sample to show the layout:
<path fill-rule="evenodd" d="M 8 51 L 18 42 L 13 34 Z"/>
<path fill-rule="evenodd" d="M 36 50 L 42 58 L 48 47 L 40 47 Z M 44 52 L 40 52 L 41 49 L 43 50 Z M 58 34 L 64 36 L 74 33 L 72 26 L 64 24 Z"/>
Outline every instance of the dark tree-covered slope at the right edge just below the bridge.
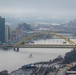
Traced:
<path fill-rule="evenodd" d="M 76 50 L 72 50 L 65 54 L 63 63 L 71 63 L 76 61 Z"/>

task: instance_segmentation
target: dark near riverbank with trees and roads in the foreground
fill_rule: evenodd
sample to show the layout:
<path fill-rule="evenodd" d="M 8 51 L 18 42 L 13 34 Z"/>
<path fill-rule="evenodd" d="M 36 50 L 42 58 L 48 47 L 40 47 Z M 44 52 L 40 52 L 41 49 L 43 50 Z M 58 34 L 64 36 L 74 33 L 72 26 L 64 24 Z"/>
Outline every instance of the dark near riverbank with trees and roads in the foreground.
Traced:
<path fill-rule="evenodd" d="M 66 58 L 67 56 L 69 58 Z M 15 70 L 15 71 L 12 71 L 9 74 L 8 74 L 8 71 L 4 70 L 4 71 L 0 72 L 1 73 L 0 75 L 26 75 L 26 74 L 27 75 L 33 75 L 33 74 L 36 75 L 39 73 L 44 75 L 44 73 L 46 74 L 49 71 L 51 71 L 51 73 L 56 73 L 57 70 L 59 69 L 59 67 L 65 66 L 62 64 L 62 62 L 67 61 L 67 59 L 70 59 L 71 56 L 73 56 L 71 62 L 75 61 L 74 58 L 76 57 L 76 50 L 72 50 L 72 51 L 66 53 L 64 58 L 62 58 L 62 56 L 59 55 L 57 58 L 55 58 L 53 60 L 24 65 L 21 68 Z M 30 58 L 30 60 L 31 60 L 31 58 Z"/>

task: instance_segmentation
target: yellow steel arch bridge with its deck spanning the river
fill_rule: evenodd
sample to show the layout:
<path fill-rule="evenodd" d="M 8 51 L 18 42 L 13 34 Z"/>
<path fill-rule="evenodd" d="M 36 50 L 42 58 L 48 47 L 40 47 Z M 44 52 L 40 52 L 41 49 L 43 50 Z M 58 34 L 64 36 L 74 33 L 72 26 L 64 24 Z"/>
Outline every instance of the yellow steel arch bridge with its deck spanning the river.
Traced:
<path fill-rule="evenodd" d="M 64 39 L 66 42 L 69 43 L 69 45 L 67 45 L 67 44 L 29 44 L 29 43 L 25 44 L 24 43 L 27 40 L 32 39 L 33 37 L 37 38 L 38 36 L 42 36 L 42 35 L 56 36 L 60 39 Z M 13 48 L 76 48 L 76 43 L 73 42 L 72 40 L 60 35 L 60 34 L 45 32 L 45 33 L 32 34 L 30 36 L 27 36 L 27 37 L 21 39 L 20 41 L 16 42 L 15 44 L 3 45 L 3 47 L 13 47 Z"/>

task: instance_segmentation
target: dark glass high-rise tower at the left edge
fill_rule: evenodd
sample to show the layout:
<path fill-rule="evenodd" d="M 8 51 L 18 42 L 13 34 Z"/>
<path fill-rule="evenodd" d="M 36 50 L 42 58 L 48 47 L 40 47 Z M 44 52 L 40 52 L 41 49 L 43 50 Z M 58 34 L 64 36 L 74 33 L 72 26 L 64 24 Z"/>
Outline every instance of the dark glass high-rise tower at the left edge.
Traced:
<path fill-rule="evenodd" d="M 5 43 L 5 18 L 0 17 L 0 42 Z"/>

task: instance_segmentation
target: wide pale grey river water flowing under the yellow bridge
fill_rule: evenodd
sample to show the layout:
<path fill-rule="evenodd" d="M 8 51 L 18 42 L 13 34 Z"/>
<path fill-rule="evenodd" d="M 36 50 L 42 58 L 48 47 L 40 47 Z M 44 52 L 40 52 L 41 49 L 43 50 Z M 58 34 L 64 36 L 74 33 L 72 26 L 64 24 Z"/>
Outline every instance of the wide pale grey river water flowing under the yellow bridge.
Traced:
<path fill-rule="evenodd" d="M 50 39 L 47 41 L 49 42 Z M 48 44 L 47 41 L 40 40 L 40 43 L 43 44 L 44 42 L 45 44 Z M 73 41 L 75 41 L 75 39 Z M 39 43 L 39 41 L 34 42 L 35 44 Z M 61 40 L 61 43 L 62 42 L 63 40 Z M 7 51 L 0 49 L 0 71 L 8 70 L 10 73 L 25 64 L 49 61 L 56 58 L 58 55 L 62 55 L 64 57 L 65 53 L 71 50 L 72 49 L 70 48 L 20 48 L 19 52 L 15 52 L 13 49 Z M 32 54 L 31 58 L 29 58 L 30 54 Z"/>

